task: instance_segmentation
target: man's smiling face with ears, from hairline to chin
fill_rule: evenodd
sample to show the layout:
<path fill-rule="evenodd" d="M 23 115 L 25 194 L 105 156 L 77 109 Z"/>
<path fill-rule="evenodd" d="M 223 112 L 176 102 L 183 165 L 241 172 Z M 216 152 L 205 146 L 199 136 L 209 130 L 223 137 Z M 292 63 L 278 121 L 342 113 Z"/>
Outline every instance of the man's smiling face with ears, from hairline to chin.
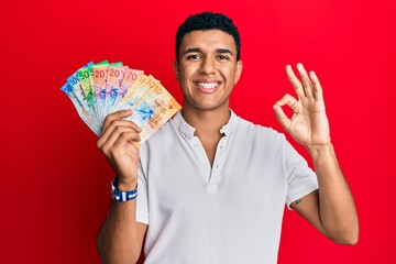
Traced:
<path fill-rule="evenodd" d="M 175 74 L 184 94 L 184 107 L 210 110 L 229 108 L 229 96 L 241 76 L 233 37 L 220 30 L 187 33 L 179 48 Z"/>

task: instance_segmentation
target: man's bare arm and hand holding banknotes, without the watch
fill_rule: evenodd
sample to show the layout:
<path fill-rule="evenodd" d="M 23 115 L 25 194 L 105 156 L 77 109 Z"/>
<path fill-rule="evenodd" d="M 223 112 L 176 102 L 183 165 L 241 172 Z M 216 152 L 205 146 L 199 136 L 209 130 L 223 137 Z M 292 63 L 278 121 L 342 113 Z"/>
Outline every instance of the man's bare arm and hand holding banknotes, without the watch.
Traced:
<path fill-rule="evenodd" d="M 122 120 L 131 114 L 125 110 L 108 116 L 97 143 L 113 167 L 118 188 L 122 191 L 133 190 L 138 183 L 139 151 L 132 142 L 140 141 L 141 129 L 131 121 Z M 98 237 L 102 263 L 136 263 L 147 226 L 138 223 L 135 215 L 135 199 L 112 201 Z"/>

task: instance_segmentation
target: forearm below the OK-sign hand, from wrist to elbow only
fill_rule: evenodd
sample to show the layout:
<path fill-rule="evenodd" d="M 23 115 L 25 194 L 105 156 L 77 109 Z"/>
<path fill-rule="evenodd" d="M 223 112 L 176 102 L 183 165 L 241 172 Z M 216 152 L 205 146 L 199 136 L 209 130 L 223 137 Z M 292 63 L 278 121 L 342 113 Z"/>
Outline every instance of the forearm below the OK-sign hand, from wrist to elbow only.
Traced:
<path fill-rule="evenodd" d="M 319 217 L 336 242 L 355 244 L 359 222 L 354 200 L 331 144 L 308 148 L 319 183 Z"/>

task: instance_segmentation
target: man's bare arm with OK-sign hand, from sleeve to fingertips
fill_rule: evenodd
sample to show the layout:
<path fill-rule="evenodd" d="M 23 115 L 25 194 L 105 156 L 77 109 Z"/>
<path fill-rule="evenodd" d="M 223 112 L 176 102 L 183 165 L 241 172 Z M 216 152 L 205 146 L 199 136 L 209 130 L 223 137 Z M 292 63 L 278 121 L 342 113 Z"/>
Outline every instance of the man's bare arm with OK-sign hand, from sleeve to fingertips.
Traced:
<path fill-rule="evenodd" d="M 319 190 L 293 202 L 292 208 L 329 239 L 338 243 L 355 244 L 359 238 L 356 208 L 331 144 L 322 89 L 314 72 L 308 76 L 301 64 L 297 65 L 297 69 L 302 84 L 292 67 L 286 67 L 298 100 L 285 95 L 274 105 L 274 110 L 283 128 L 308 150 Z M 292 119 L 282 109 L 285 105 L 294 112 Z"/>

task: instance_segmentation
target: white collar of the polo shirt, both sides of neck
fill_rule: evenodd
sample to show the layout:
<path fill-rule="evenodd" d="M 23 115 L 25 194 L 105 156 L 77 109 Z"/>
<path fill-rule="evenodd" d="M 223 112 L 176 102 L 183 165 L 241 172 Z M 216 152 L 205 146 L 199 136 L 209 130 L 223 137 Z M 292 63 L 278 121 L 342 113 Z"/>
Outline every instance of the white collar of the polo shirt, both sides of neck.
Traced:
<path fill-rule="evenodd" d="M 231 135 L 231 133 L 235 130 L 238 122 L 237 114 L 230 109 L 230 120 L 227 124 L 224 124 L 220 129 L 220 133 L 226 136 Z M 182 111 L 178 111 L 175 117 L 172 119 L 172 123 L 176 127 L 176 129 L 188 140 L 194 136 L 196 128 L 191 127 L 186 122 L 186 120 L 182 116 Z"/>

